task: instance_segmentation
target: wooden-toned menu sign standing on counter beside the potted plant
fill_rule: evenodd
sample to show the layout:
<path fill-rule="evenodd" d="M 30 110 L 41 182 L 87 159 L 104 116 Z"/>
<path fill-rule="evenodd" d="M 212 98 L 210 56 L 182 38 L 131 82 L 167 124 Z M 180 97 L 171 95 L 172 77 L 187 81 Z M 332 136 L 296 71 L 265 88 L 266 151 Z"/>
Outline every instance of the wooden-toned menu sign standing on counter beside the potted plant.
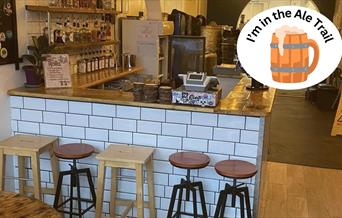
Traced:
<path fill-rule="evenodd" d="M 49 54 L 43 62 L 45 88 L 70 88 L 70 64 L 67 54 Z"/>

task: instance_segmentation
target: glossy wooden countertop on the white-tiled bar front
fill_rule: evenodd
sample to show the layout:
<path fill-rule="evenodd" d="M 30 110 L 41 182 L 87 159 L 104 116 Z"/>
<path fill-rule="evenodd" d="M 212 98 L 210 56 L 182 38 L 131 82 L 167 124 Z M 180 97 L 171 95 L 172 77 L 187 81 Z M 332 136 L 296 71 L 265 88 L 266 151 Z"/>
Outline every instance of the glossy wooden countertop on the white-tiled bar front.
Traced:
<path fill-rule="evenodd" d="M 249 82 L 250 79 L 245 77 L 242 78 L 233 90 L 226 97 L 221 99 L 221 102 L 215 108 L 135 102 L 132 93 L 97 89 L 17 88 L 9 90 L 8 95 L 219 114 L 249 116 L 269 115 L 272 110 L 275 89 L 270 88 L 267 91 L 251 92 L 245 89 L 245 85 L 249 84 Z"/>

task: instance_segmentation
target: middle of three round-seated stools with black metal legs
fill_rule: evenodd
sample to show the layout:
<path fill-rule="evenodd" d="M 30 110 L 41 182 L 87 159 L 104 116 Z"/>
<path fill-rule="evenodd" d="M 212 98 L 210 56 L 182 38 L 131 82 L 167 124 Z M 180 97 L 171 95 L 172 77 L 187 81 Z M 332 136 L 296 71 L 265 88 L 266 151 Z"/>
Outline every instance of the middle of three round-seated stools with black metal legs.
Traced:
<path fill-rule="evenodd" d="M 190 170 L 192 169 L 201 169 L 208 166 L 210 159 L 207 155 L 195 152 L 178 152 L 174 153 L 169 157 L 170 163 L 178 168 L 186 169 L 187 175 L 186 179 L 181 179 L 180 184 L 173 186 L 171 201 L 169 205 L 169 211 L 167 214 L 168 218 L 171 217 L 180 217 L 181 214 L 194 216 L 194 217 L 208 217 L 207 208 L 205 205 L 204 199 L 204 191 L 203 191 L 203 184 L 202 182 L 191 182 L 190 180 Z M 198 187 L 200 198 L 201 198 L 201 205 L 202 205 L 202 215 L 198 215 L 197 212 L 197 200 L 196 200 L 196 187 Z M 183 189 L 186 191 L 185 199 L 189 201 L 190 199 L 190 191 L 192 192 L 192 200 L 193 200 L 193 214 L 187 212 L 181 212 L 182 200 L 183 200 Z M 176 195 L 179 190 L 178 195 L 178 205 L 177 210 L 174 215 L 173 208 L 176 201 Z"/>

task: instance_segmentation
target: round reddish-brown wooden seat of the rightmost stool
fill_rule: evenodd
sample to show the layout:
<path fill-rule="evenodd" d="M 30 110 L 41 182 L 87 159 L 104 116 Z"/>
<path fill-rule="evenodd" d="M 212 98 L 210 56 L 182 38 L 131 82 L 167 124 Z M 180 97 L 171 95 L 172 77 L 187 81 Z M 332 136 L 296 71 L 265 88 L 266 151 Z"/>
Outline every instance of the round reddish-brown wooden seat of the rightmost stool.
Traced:
<path fill-rule="evenodd" d="M 257 173 L 257 168 L 242 160 L 223 160 L 215 165 L 218 174 L 232 179 L 247 179 L 253 177 Z"/>

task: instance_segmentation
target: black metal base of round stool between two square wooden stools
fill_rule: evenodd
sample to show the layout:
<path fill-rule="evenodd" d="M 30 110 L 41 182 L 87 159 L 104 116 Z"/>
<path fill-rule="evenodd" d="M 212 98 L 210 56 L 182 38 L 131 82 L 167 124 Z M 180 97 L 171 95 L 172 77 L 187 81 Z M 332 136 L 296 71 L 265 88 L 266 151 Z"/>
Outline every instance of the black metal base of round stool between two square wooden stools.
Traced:
<path fill-rule="evenodd" d="M 53 204 L 53 207 L 58 211 L 62 212 L 64 214 L 69 214 L 70 218 L 72 216 L 78 216 L 82 217 L 86 212 L 88 212 L 91 208 L 95 207 L 96 205 L 96 193 L 95 193 L 95 188 L 93 184 L 93 180 L 91 178 L 91 173 L 89 168 L 84 168 L 84 169 L 77 169 L 76 167 L 76 160 L 73 160 L 73 165 L 70 164 L 71 170 L 68 171 L 62 171 L 59 173 L 58 176 L 58 183 L 57 183 L 57 190 L 56 190 L 56 195 L 55 195 L 55 201 Z M 91 191 L 92 199 L 85 199 L 81 198 L 81 190 L 80 190 L 80 178 L 79 174 L 86 174 L 88 183 L 89 183 L 89 188 Z M 70 176 L 70 198 L 67 200 L 63 201 L 62 203 L 58 204 L 58 200 L 61 195 L 61 188 L 62 188 L 62 182 L 63 182 L 63 177 L 64 176 Z M 77 197 L 73 196 L 73 188 L 77 188 Z M 73 201 L 77 201 L 77 206 L 78 206 L 78 212 L 74 213 L 73 211 Z M 89 207 L 86 209 L 82 210 L 81 207 L 81 202 L 87 202 L 91 203 Z M 69 203 L 70 209 L 68 211 L 63 210 L 63 206 L 65 204 Z"/>

